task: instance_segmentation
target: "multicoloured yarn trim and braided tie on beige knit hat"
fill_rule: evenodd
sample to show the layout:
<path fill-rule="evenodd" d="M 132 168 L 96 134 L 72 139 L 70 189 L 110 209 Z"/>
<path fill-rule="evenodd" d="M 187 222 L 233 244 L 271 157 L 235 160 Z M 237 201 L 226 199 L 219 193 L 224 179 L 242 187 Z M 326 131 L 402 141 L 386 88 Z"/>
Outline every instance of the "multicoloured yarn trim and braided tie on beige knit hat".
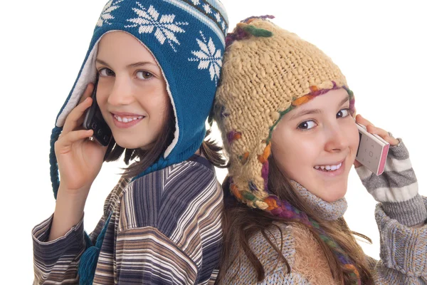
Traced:
<path fill-rule="evenodd" d="M 228 33 L 226 37 L 226 51 L 230 47 L 231 43 L 235 41 L 242 41 L 251 37 L 271 37 L 273 36 L 273 33 L 271 31 L 267 31 L 263 28 L 258 28 L 256 26 L 251 26 L 251 22 L 255 21 L 256 19 L 273 19 L 274 16 L 259 16 L 259 17 L 250 17 L 241 23 L 239 23 L 236 28 L 234 29 L 233 33 Z M 224 59 L 226 61 L 226 59 Z M 226 78 L 223 78 L 223 80 L 227 80 Z M 331 249 L 333 254 L 339 259 L 339 261 L 343 265 L 343 269 L 347 270 L 349 272 L 349 276 L 352 278 L 353 282 L 352 284 L 361 284 L 360 281 L 360 274 L 359 270 L 356 266 L 354 266 L 354 262 L 352 259 L 349 258 L 348 254 L 344 252 L 342 247 L 337 244 L 337 242 L 330 237 L 322 227 L 320 227 L 320 224 L 318 224 L 315 219 L 312 219 L 307 216 L 305 212 L 300 211 L 296 207 L 292 206 L 288 201 L 285 199 L 281 200 L 277 196 L 273 195 L 268 190 L 268 157 L 270 157 L 271 154 L 271 135 L 273 133 L 273 130 L 275 126 L 280 121 L 280 118 L 285 115 L 285 113 L 288 113 L 290 110 L 296 108 L 297 106 L 300 106 L 304 103 L 309 102 L 313 98 L 316 98 L 318 95 L 322 95 L 327 93 L 330 90 L 336 90 L 339 88 L 344 88 L 347 90 L 347 93 L 349 94 L 349 101 L 350 101 L 350 113 L 352 115 L 354 114 L 354 95 L 349 88 L 345 85 L 337 86 L 337 83 L 334 81 L 330 81 L 329 88 L 325 88 L 325 86 L 310 86 L 310 93 L 306 95 L 302 95 L 300 98 L 296 98 L 292 101 L 292 104 L 287 108 L 286 110 L 279 113 L 279 117 L 276 118 L 275 123 L 273 126 L 270 127 L 270 133 L 268 138 L 263 141 L 265 143 L 265 149 L 263 150 L 263 153 L 261 155 L 258 155 L 258 161 L 262 164 L 262 170 L 261 170 L 261 177 L 263 177 L 264 185 L 263 190 L 258 190 L 255 183 L 250 181 L 248 182 L 248 189 L 239 189 L 238 185 L 236 185 L 233 182 L 233 177 L 230 177 L 230 190 L 231 193 L 241 202 L 244 202 L 248 204 L 249 207 L 254 207 L 258 209 L 263 209 L 265 212 L 269 212 L 270 214 L 273 214 L 275 217 L 281 217 L 283 219 L 288 219 L 296 222 L 301 222 L 302 224 L 305 224 L 310 229 L 313 229 L 317 234 L 319 234 L 320 238 L 322 239 L 325 244 Z M 219 110 L 219 116 L 218 118 L 220 120 L 224 120 L 228 118 L 230 115 L 226 108 L 224 106 L 221 106 L 221 110 Z M 226 133 L 224 135 L 226 137 L 226 142 L 228 142 L 228 145 L 231 145 L 236 140 L 239 140 L 242 138 L 242 133 L 238 132 L 237 130 L 231 130 L 230 132 Z M 239 160 L 243 164 L 245 164 L 248 160 L 248 157 L 250 157 L 251 154 L 249 152 L 244 152 L 243 155 L 239 156 Z"/>

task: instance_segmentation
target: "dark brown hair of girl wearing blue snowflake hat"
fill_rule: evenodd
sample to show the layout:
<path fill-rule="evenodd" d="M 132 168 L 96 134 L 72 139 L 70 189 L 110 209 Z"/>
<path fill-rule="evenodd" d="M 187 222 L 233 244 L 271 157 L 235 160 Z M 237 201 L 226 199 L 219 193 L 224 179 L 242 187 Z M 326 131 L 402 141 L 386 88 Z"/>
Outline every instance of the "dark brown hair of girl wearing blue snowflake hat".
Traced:
<path fill-rule="evenodd" d="M 117 145 L 114 138 L 112 138 L 107 147 L 104 161 L 110 162 L 118 160 L 122 156 L 123 152 L 125 152 L 124 161 L 126 165 L 129 165 L 130 161 L 135 158 L 139 159 L 137 162 L 132 163 L 132 165 L 125 169 L 125 177 L 135 177 L 139 175 L 139 173 L 144 172 L 144 170 L 159 159 L 160 155 L 162 155 L 174 139 L 175 116 L 171 103 L 168 104 L 166 113 L 167 115 L 164 120 L 164 126 L 162 131 L 159 133 L 157 140 L 154 142 L 154 147 L 149 150 L 142 150 L 139 148 L 127 149 Z M 222 155 L 222 147 L 216 145 L 216 142 L 213 140 L 206 140 L 206 137 L 208 137 L 210 133 L 211 130 L 207 130 L 205 140 L 201 143 L 200 150 L 206 159 L 213 165 L 216 167 L 225 167 L 226 160 Z"/>

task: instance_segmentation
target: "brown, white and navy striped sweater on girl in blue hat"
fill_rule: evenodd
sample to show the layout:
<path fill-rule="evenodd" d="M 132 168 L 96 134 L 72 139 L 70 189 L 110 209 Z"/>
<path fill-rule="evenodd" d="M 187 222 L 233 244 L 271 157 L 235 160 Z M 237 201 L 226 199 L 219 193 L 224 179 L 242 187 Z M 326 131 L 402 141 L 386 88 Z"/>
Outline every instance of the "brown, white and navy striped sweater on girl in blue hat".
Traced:
<path fill-rule="evenodd" d="M 112 213 L 93 284 L 210 284 L 221 244 L 223 195 L 214 167 L 194 155 L 130 182 L 121 178 L 90 239 Z M 83 219 L 47 242 L 52 218 L 33 229 L 34 284 L 78 284 Z"/>

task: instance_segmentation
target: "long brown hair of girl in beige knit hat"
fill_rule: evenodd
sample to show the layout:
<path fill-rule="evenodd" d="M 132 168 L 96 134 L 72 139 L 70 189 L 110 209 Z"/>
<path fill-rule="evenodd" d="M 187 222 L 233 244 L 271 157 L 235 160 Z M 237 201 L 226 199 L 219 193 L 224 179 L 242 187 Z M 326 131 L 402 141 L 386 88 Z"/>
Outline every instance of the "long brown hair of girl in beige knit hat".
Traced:
<path fill-rule="evenodd" d="M 339 218 L 336 221 L 325 221 L 316 217 L 315 213 L 310 209 L 310 207 L 304 202 L 304 200 L 298 195 L 297 191 L 290 184 L 288 177 L 285 177 L 283 173 L 279 170 L 273 155 L 270 155 L 269 159 L 269 173 L 268 173 L 268 189 L 277 195 L 280 199 L 286 199 L 290 204 L 292 204 L 297 209 L 305 212 L 309 217 L 315 219 L 316 222 L 320 224 L 320 227 L 325 230 L 325 232 L 334 239 L 337 244 L 347 253 L 350 259 L 354 261 L 354 266 L 357 267 L 360 280 L 362 284 L 374 284 L 371 273 L 369 272 L 367 261 L 365 260 L 364 252 L 362 248 L 357 244 L 354 235 L 367 239 L 371 242 L 369 237 L 359 234 L 357 232 L 350 231 L 347 223 L 344 218 Z M 312 235 L 315 237 L 317 242 L 319 242 L 320 247 L 327 258 L 327 262 L 330 266 L 331 273 L 334 279 L 337 279 L 342 282 L 342 284 L 349 284 L 350 276 L 349 271 L 344 269 L 339 259 L 333 254 L 330 247 L 323 242 L 319 234 L 315 230 L 307 227 L 301 222 L 293 221 L 290 219 L 284 219 L 281 217 L 274 217 L 268 212 L 264 212 L 260 209 L 251 209 L 238 202 L 236 198 L 232 197 L 229 191 L 229 180 L 226 180 L 223 183 L 223 190 L 225 192 L 224 196 L 224 213 L 223 213 L 223 249 L 221 256 L 221 266 L 220 272 L 217 279 L 217 284 L 221 282 L 221 279 L 225 276 L 227 269 L 234 262 L 238 262 L 240 266 L 241 260 L 236 260 L 237 257 L 231 257 L 231 252 L 234 243 L 237 243 L 239 250 L 243 250 L 248 260 L 251 262 L 253 268 L 256 271 L 258 281 L 263 281 L 265 278 L 265 270 L 261 264 L 258 257 L 255 256 L 253 250 L 250 247 L 249 239 L 256 232 L 263 234 L 265 241 L 275 249 L 278 253 L 278 261 L 283 261 L 286 267 L 288 268 L 288 273 L 290 273 L 290 265 L 285 259 L 282 253 L 283 244 L 275 244 L 270 237 L 268 237 L 268 230 L 271 227 L 276 227 L 280 234 L 283 236 L 283 232 L 280 227 L 275 223 L 283 224 L 299 224 L 302 227 L 306 227 L 310 230 Z M 276 263 L 276 266 L 278 266 Z M 236 271 L 236 275 L 238 271 Z M 234 277 L 236 277 L 233 276 Z"/>

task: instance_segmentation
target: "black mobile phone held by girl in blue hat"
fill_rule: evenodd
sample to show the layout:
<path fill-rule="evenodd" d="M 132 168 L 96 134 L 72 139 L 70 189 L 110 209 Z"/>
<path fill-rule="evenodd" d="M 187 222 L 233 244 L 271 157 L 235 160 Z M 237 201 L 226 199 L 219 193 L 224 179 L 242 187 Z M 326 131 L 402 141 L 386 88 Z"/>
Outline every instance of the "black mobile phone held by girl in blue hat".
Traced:
<path fill-rule="evenodd" d="M 92 92 L 93 103 L 90 108 L 86 111 L 85 120 L 83 121 L 83 128 L 86 130 L 93 130 L 93 138 L 97 140 L 101 145 L 107 146 L 110 143 L 112 133 L 110 127 L 108 127 L 100 107 L 97 105 L 96 91 L 97 91 L 98 76 L 96 76 L 95 87 Z"/>

